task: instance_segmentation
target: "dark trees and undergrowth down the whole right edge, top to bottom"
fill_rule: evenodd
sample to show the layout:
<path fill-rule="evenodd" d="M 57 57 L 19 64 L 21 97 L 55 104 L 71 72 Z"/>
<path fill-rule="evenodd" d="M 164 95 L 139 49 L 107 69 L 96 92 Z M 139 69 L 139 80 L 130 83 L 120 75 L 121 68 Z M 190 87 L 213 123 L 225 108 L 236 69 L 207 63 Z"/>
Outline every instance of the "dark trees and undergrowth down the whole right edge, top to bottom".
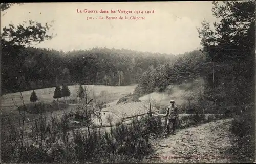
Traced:
<path fill-rule="evenodd" d="M 208 54 L 217 67 L 215 80 L 208 77 L 210 94 L 222 106 L 237 115 L 232 122 L 231 131 L 237 136 L 233 141 L 232 154 L 240 158 L 239 162 L 255 161 L 255 108 L 245 113 L 242 104 L 255 105 L 255 1 L 218 1 L 212 2 L 212 14 L 220 19 L 211 29 L 209 22 L 203 21 L 198 29 L 203 51 Z M 241 112 L 240 112 L 241 111 Z M 228 115 L 228 113 L 225 113 Z M 243 142 L 247 141 L 248 142 Z M 252 153 L 249 153 L 252 152 Z M 253 155 L 252 155 L 253 154 Z"/>

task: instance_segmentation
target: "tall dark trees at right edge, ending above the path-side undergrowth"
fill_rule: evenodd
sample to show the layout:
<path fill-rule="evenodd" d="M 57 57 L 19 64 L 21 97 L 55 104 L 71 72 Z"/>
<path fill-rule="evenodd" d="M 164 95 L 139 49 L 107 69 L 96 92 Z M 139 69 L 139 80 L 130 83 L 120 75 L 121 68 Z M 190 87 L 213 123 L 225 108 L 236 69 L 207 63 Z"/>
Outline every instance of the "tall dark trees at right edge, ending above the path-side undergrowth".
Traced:
<path fill-rule="evenodd" d="M 214 23 L 214 30 L 204 21 L 198 32 L 203 50 L 217 64 L 215 87 L 221 87 L 224 82 L 236 84 L 243 89 L 234 89 L 238 93 L 229 92 L 230 97 L 254 101 L 250 94 L 255 74 L 255 1 L 224 1 L 223 5 L 216 1 L 213 4 L 213 15 L 221 21 Z"/>

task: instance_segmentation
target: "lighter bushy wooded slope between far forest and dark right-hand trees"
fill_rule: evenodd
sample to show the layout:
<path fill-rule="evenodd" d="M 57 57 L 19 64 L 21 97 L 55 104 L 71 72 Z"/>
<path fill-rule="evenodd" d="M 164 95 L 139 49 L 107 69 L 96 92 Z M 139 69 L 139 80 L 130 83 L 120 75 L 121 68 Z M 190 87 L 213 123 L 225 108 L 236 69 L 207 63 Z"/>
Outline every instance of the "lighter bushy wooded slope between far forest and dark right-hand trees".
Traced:
<path fill-rule="evenodd" d="M 173 63 L 159 65 L 156 69 L 144 72 L 135 93 L 163 92 L 168 85 L 188 83 L 207 76 L 209 72 L 210 65 L 206 54 L 195 50 L 185 53 Z"/>

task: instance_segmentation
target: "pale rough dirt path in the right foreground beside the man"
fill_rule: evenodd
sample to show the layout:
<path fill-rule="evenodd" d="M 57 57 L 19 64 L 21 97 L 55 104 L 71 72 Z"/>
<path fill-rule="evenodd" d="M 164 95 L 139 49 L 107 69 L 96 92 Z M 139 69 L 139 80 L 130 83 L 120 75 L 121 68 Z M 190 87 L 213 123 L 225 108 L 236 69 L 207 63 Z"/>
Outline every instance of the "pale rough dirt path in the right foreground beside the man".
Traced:
<path fill-rule="evenodd" d="M 152 139 L 154 154 L 149 163 L 231 163 L 225 150 L 231 144 L 228 137 L 232 119 L 209 122 L 180 130 L 167 138 Z"/>

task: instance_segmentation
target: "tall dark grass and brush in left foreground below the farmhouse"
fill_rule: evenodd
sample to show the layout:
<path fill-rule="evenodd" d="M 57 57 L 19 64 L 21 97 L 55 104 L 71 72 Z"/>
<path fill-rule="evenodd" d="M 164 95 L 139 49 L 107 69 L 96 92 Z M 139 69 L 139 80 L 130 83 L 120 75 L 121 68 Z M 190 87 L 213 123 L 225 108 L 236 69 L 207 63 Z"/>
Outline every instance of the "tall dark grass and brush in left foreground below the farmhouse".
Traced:
<path fill-rule="evenodd" d="M 70 130 L 71 118 L 70 113 L 60 118 L 52 117 L 49 121 L 41 116 L 30 121 L 29 127 L 9 121 L 2 129 L 2 161 L 139 162 L 151 153 L 148 135 L 156 132 L 159 126 L 152 116 L 144 116 L 141 120 L 135 119 L 131 125 L 112 127 L 111 133 L 87 128 Z"/>

